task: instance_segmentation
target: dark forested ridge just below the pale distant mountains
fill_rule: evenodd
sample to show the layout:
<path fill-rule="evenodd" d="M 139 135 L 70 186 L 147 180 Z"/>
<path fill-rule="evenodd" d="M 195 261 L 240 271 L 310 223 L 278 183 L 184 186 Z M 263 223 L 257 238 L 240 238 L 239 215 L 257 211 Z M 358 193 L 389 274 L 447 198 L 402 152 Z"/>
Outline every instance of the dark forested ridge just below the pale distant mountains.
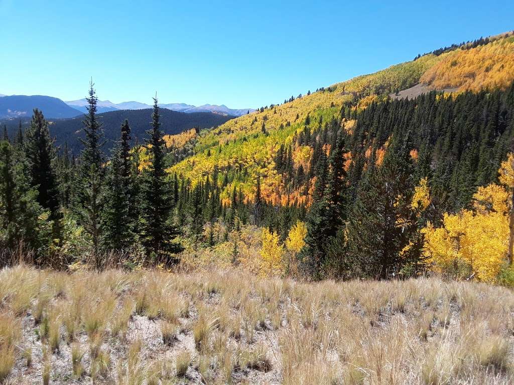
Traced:
<path fill-rule="evenodd" d="M 193 127 L 199 129 L 215 127 L 232 119 L 230 116 L 210 112 L 185 113 L 164 108 L 161 108 L 159 113 L 161 115 L 161 130 L 164 134 L 176 134 Z M 147 137 L 146 130 L 150 128 L 151 114 L 151 109 L 120 110 L 99 114 L 105 132 L 105 151 L 108 151 L 112 147 L 113 142 L 118 140 L 120 126 L 125 119 L 128 119 L 131 125 L 132 137 L 134 139 L 138 138 L 141 143 Z M 52 137 L 56 138 L 56 144 L 63 146 L 65 143 L 68 143 L 70 151 L 78 154 L 82 146 L 80 138 L 83 138 L 82 120 L 83 115 L 73 119 L 50 121 L 50 133 Z M 19 122 L 19 119 L 11 119 L 1 122 L 0 125 L 6 124 L 9 136 L 14 138 Z M 21 122 L 22 127 L 25 129 L 30 124 L 30 119 L 23 119 Z M 135 143 L 135 140 L 133 140 L 133 143 Z"/>

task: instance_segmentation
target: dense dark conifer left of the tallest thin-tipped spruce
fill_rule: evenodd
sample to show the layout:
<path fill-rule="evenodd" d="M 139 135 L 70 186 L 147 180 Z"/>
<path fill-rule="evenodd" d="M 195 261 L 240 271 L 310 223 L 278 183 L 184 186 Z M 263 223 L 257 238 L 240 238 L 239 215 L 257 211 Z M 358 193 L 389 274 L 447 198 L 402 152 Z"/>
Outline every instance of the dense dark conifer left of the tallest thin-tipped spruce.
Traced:
<path fill-rule="evenodd" d="M 50 220 L 56 222 L 54 236 L 58 237 L 57 222 L 61 218 L 61 213 L 56 172 L 57 154 L 53 142 L 43 113 L 37 108 L 34 109 L 24 146 L 30 183 L 38 190 L 37 199 L 40 205 L 50 210 Z"/>

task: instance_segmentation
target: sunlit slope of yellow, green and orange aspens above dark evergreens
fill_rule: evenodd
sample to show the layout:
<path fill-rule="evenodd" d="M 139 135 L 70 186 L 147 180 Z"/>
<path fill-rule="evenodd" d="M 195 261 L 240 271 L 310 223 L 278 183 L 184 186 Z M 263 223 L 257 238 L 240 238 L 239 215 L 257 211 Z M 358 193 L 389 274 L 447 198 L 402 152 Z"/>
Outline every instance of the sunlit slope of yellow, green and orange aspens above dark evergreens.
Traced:
<path fill-rule="evenodd" d="M 293 143 L 295 134 L 306 125 L 316 131 L 338 115 L 345 103 L 352 103 L 352 108 L 364 108 L 373 100 L 386 98 L 390 93 L 418 83 L 425 84 L 427 89 L 456 88 L 459 91 L 506 88 L 514 80 L 513 63 L 514 36 L 510 33 L 493 37 L 490 43 L 475 48 L 426 54 L 417 60 L 358 76 L 201 132 L 196 138 L 194 156 L 176 164 L 170 171 L 183 173 L 194 183 L 212 174 L 215 165 L 220 170 L 244 170 L 233 184 L 241 185 L 245 196 L 252 197 L 252 186 L 259 175 L 263 178 L 265 199 L 278 201 L 284 193 L 284 185 L 274 169 L 273 157 L 281 144 L 292 144 L 295 166 L 308 164 L 308 150 L 297 148 Z M 306 124 L 307 115 L 309 122 Z M 226 198 L 232 187 L 227 186 Z"/>

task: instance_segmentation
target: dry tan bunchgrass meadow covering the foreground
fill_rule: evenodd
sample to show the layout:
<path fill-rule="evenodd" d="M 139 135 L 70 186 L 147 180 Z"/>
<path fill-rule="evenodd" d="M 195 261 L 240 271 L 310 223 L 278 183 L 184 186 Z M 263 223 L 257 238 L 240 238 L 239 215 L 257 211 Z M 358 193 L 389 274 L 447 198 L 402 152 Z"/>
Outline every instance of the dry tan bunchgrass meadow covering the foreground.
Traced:
<path fill-rule="evenodd" d="M 514 382 L 514 295 L 241 271 L 0 271 L 0 382 Z"/>

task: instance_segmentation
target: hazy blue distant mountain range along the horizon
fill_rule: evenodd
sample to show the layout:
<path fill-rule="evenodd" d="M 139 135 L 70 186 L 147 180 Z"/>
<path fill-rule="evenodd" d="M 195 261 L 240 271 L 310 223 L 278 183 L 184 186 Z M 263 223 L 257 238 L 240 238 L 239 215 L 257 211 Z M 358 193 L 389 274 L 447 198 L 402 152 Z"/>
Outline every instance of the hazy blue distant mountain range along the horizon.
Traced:
<path fill-rule="evenodd" d="M 32 109 L 43 110 L 45 117 L 50 119 L 73 118 L 86 112 L 87 101 L 85 99 L 63 102 L 61 99 L 43 95 L 11 95 L 6 96 L 0 93 L 0 119 L 23 118 L 32 115 Z M 159 104 L 160 107 L 173 111 L 193 113 L 193 112 L 212 112 L 231 117 L 239 117 L 248 112 L 253 112 L 252 108 L 232 109 L 225 105 L 204 104 L 203 106 L 193 106 L 186 103 Z M 113 103 L 111 101 L 98 101 L 98 112 L 109 112 L 119 110 L 140 110 L 152 108 L 152 106 L 140 102 Z"/>

